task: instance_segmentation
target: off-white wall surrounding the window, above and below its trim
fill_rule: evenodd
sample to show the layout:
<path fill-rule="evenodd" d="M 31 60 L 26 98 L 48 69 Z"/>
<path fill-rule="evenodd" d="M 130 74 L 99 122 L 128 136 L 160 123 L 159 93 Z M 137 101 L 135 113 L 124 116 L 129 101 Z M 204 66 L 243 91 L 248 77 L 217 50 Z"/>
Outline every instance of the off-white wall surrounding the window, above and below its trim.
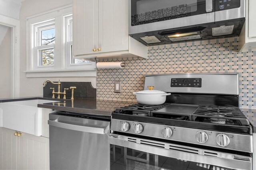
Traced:
<path fill-rule="evenodd" d="M 73 0 L 25 0 L 20 8 L 20 96 L 42 96 L 46 79 L 66 82 L 92 82 L 96 87 L 96 77 L 26 78 L 26 18 L 72 4 Z"/>

